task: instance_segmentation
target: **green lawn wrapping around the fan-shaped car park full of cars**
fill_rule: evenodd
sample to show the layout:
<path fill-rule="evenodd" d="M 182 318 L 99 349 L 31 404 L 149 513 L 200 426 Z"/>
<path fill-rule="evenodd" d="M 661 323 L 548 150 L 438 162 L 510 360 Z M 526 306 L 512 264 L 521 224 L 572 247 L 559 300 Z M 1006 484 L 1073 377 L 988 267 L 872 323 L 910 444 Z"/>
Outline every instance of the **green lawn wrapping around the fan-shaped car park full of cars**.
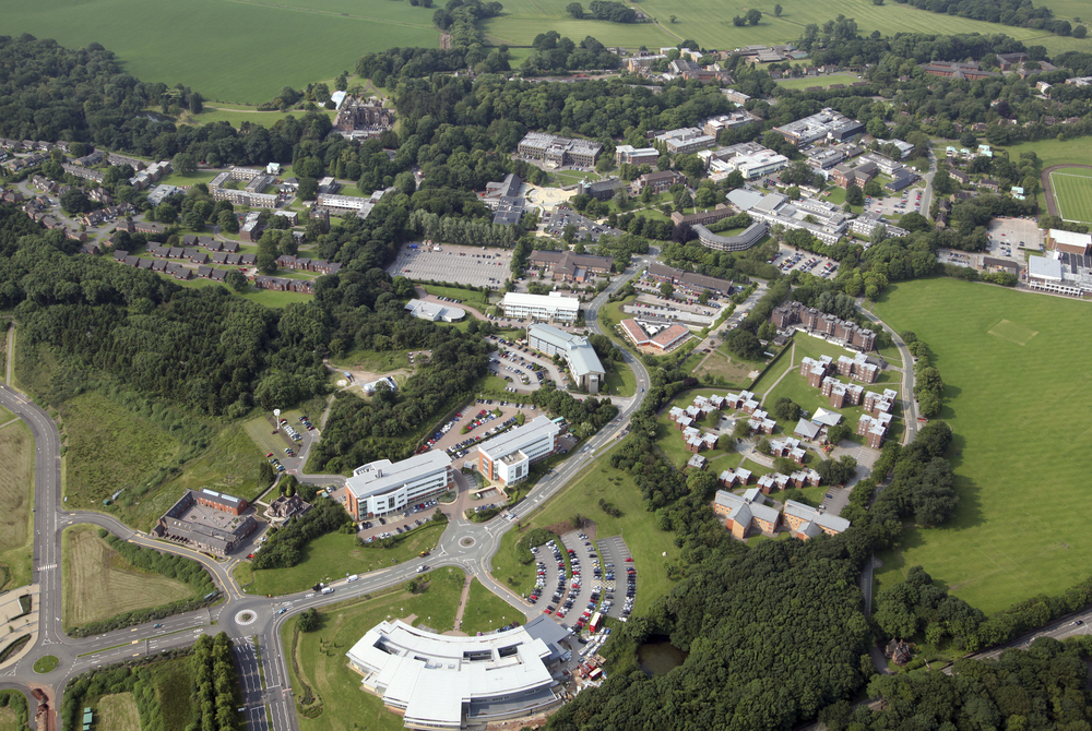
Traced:
<path fill-rule="evenodd" d="M 629 472 L 609 466 L 608 451 L 589 465 L 565 490 L 542 508 L 524 518 L 525 527 L 546 527 L 579 513 L 595 522 L 596 538 L 621 536 L 633 554 L 637 568 L 637 602 L 640 614 L 652 602 L 672 590 L 667 565 L 678 560 L 674 535 L 656 528 L 655 514 L 646 513 L 641 491 Z M 621 511 L 621 517 L 610 517 L 598 507 L 603 498 Z M 527 594 L 535 585 L 534 563 L 524 565 L 515 560 L 517 530 L 509 530 L 491 559 L 492 576 L 518 594 Z M 663 555 L 665 554 L 666 555 Z M 541 604 L 539 604 L 541 606 Z"/>

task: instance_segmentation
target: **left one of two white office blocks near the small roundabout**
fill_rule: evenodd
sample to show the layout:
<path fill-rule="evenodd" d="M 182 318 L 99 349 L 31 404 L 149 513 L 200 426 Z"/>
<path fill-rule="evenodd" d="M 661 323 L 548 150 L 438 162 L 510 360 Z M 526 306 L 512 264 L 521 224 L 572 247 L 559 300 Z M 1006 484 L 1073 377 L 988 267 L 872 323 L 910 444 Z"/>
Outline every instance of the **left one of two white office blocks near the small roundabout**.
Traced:
<path fill-rule="evenodd" d="M 454 487 L 451 458 L 443 452 L 415 454 L 392 463 L 377 459 L 345 481 L 345 510 L 357 520 L 405 510 Z"/>

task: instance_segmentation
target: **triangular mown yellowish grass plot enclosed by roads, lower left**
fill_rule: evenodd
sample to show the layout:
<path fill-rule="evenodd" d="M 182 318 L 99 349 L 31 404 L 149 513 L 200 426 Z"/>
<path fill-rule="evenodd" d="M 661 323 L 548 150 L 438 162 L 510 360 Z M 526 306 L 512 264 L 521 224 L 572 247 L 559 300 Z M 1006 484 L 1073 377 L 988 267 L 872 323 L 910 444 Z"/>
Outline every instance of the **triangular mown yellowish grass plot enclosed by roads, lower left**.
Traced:
<path fill-rule="evenodd" d="M 188 599 L 181 582 L 133 567 L 88 525 L 64 530 L 64 626 L 76 627 L 134 609 Z"/>

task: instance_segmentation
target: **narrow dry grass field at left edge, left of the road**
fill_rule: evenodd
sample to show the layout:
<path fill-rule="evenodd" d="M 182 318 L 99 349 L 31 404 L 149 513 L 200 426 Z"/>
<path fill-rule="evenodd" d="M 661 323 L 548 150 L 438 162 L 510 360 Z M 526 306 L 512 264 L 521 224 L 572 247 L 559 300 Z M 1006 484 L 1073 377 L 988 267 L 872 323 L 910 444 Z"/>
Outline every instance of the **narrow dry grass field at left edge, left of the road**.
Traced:
<path fill-rule="evenodd" d="M 17 421 L 0 429 L 0 454 L 4 465 L 0 470 L 0 564 L 8 567 L 9 577 L 0 589 L 8 589 L 31 583 L 34 438 L 26 424 Z"/>

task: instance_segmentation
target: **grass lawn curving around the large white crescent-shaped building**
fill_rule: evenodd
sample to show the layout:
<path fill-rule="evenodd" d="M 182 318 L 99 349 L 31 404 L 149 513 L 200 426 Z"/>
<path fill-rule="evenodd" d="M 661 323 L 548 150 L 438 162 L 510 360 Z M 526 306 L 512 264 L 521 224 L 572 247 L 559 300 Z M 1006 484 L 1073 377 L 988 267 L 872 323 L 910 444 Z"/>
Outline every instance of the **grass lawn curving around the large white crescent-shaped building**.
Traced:
<path fill-rule="evenodd" d="M 296 635 L 296 620 L 285 623 L 281 637 L 296 659 L 288 663 L 293 692 L 297 698 L 304 697 L 305 688 L 300 681 L 306 682 L 323 708 L 318 718 L 297 715 L 302 731 L 352 731 L 357 728 L 402 731 L 402 718 L 385 710 L 381 698 L 361 690 L 360 675 L 349 669 L 345 652 L 365 632 L 383 620 L 415 614 L 415 626 L 425 625 L 439 632 L 450 630 L 454 625 L 463 588 L 463 573 L 458 568 L 443 567 L 427 575 L 430 577 L 428 588 L 415 595 L 399 588 L 319 610 L 320 624 L 316 632 Z M 505 607 L 507 612 L 501 614 L 508 616 L 508 621 L 514 615 L 522 622 L 514 609 L 508 604 Z M 473 604 L 468 604 L 466 611 L 470 616 Z M 498 622 L 503 620 L 495 616 L 494 626 Z"/>

